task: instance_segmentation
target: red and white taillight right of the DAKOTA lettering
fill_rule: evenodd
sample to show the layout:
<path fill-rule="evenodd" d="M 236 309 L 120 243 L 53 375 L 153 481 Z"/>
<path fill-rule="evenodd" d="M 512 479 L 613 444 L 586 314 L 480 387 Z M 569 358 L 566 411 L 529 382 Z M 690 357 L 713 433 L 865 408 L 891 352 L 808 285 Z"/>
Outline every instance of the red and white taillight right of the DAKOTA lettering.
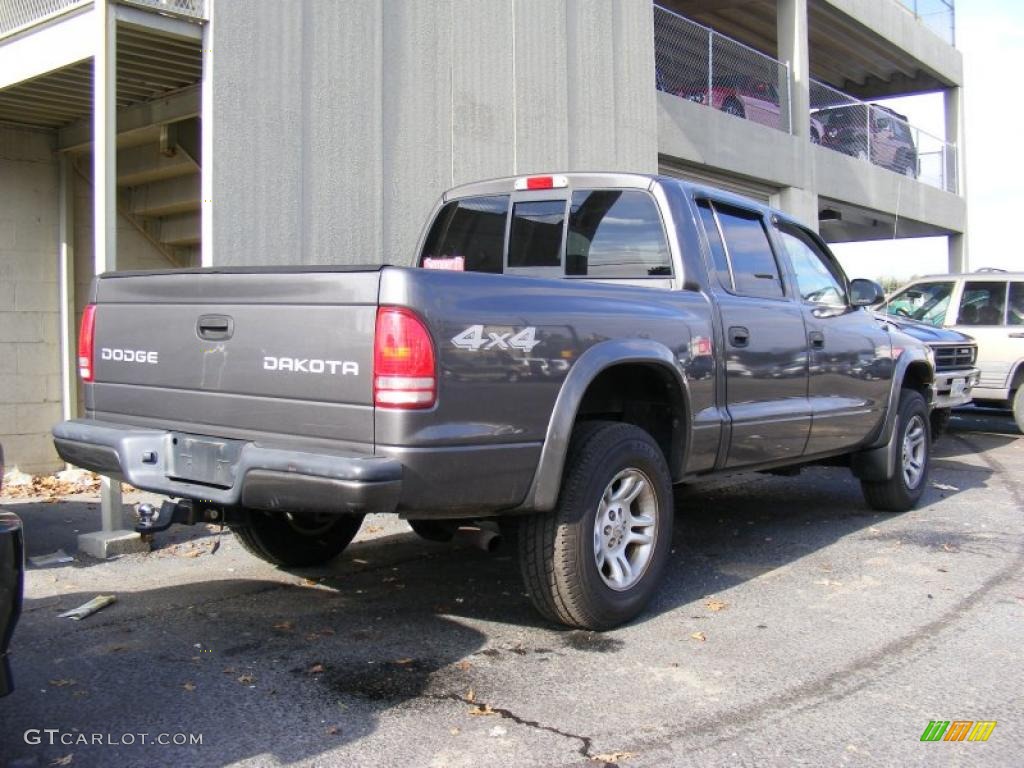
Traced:
<path fill-rule="evenodd" d="M 434 343 L 423 321 L 409 309 L 382 306 L 374 336 L 374 404 L 431 408 L 436 400 Z"/>

